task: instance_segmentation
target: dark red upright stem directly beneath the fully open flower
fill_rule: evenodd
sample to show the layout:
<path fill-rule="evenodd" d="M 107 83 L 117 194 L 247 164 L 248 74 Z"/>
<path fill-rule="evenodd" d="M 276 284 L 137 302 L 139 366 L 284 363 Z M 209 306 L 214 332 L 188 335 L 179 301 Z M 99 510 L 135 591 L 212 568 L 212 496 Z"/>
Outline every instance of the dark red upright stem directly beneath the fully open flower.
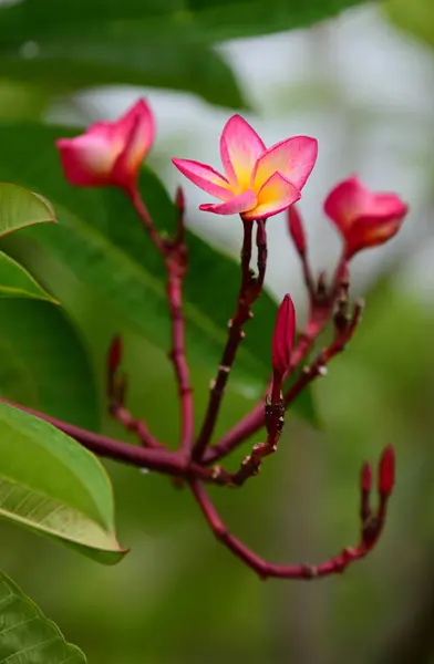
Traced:
<path fill-rule="evenodd" d="M 250 311 L 251 304 L 259 297 L 267 264 L 267 236 L 265 230 L 265 221 L 258 222 L 257 228 L 257 247 L 258 247 L 258 277 L 255 278 L 250 270 L 251 259 L 251 242 L 254 222 L 242 219 L 244 224 L 244 241 L 241 249 L 241 286 L 238 292 L 237 310 L 234 318 L 229 321 L 229 334 L 226 346 L 223 353 L 221 362 L 218 367 L 217 377 L 211 383 L 208 407 L 206 411 L 204 424 L 199 436 L 194 447 L 194 458 L 202 459 L 206 446 L 208 445 L 214 427 L 219 414 L 223 395 L 232 369 L 238 346 L 245 338 L 242 330 L 245 323 L 252 318 Z"/>

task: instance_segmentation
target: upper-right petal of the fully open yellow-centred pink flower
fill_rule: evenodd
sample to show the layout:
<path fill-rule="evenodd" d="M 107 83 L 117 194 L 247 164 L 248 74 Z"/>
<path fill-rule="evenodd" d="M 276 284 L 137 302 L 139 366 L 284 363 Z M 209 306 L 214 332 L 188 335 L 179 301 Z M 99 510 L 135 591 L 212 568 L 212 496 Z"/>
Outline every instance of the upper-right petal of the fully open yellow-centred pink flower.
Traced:
<path fill-rule="evenodd" d="M 255 190 L 276 172 L 281 173 L 299 190 L 306 184 L 318 156 L 318 141 L 309 136 L 293 136 L 270 147 L 259 159 L 255 172 Z"/>

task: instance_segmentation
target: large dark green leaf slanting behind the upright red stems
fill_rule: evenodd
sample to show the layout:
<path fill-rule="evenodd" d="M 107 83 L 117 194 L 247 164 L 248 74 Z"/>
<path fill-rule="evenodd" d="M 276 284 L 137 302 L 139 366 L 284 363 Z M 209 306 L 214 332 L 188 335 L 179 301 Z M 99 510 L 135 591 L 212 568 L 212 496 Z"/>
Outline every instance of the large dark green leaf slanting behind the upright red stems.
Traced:
<path fill-rule="evenodd" d="M 143 231 L 126 197 L 116 189 L 73 188 L 65 183 L 55 151 L 46 149 L 63 129 L 20 125 L 0 128 L 4 141 L 0 175 L 7 172 L 31 184 L 55 201 L 60 224 L 53 228 L 28 229 L 23 235 L 68 266 L 83 286 L 108 301 L 152 343 L 169 347 L 166 274 L 161 257 Z M 10 146 L 10 147 L 9 147 Z M 19 163 L 13 151 L 20 147 Z M 38 166 L 25 169 L 25 149 L 32 146 Z M 34 159 L 34 157 L 33 157 Z M 172 232 L 176 210 L 163 185 L 148 169 L 142 190 L 161 230 Z M 41 230 L 45 230 L 41 232 Z M 208 366 L 210 376 L 220 360 L 227 322 L 234 313 L 239 266 L 193 232 L 187 234 L 189 271 L 185 283 L 188 357 Z M 35 272 L 43 283 L 43 272 Z M 50 284 L 55 294 L 55 283 Z M 255 320 L 237 356 L 231 384 L 246 394 L 258 395 L 270 373 L 270 340 L 276 303 L 265 292 L 255 304 Z"/>

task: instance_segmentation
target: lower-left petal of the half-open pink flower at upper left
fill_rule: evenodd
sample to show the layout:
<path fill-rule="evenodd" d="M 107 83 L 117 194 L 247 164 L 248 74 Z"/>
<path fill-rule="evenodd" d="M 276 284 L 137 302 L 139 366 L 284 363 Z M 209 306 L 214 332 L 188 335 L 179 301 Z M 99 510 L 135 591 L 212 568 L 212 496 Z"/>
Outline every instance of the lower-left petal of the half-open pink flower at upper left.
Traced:
<path fill-rule="evenodd" d="M 55 142 L 66 179 L 78 186 L 105 184 L 116 159 L 116 149 L 100 132 Z"/>

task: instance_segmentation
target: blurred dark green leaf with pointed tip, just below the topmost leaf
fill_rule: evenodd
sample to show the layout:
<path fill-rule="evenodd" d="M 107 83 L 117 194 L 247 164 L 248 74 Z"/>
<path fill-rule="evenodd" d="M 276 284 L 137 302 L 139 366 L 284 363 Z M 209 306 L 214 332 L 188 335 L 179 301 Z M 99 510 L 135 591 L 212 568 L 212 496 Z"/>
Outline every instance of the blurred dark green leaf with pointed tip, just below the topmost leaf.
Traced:
<path fill-rule="evenodd" d="M 95 35 L 79 30 L 63 37 L 54 31 L 28 59 L 16 44 L 0 48 L 0 76 L 39 81 L 56 94 L 117 83 L 187 91 L 218 106 L 246 107 L 220 55 L 206 44 L 152 29 L 117 34 L 104 33 L 104 25 L 99 25 Z"/>

